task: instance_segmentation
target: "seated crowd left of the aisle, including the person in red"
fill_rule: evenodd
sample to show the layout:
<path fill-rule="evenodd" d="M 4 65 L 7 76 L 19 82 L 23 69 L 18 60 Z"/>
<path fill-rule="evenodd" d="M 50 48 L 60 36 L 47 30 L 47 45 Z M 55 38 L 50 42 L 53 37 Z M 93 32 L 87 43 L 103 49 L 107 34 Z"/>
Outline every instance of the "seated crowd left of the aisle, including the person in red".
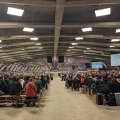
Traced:
<path fill-rule="evenodd" d="M 50 80 L 53 80 L 53 76 L 50 73 L 32 73 L 30 74 L 1 74 L 0 75 L 0 95 L 20 95 L 26 94 L 29 101 L 26 103 L 27 106 L 30 104 L 30 99 L 41 94 L 43 88 L 48 89 Z M 33 102 L 33 106 L 35 102 Z"/>

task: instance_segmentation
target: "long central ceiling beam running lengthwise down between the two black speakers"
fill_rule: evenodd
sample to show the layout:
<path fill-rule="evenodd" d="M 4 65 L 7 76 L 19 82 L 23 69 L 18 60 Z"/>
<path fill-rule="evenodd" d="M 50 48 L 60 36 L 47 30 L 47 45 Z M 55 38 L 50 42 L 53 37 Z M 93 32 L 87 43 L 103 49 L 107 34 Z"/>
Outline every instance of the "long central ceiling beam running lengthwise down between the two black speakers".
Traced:
<path fill-rule="evenodd" d="M 65 8 L 66 0 L 56 0 L 56 11 L 55 11 L 55 38 L 54 38 L 54 66 L 56 64 L 57 58 L 57 49 L 60 37 L 60 30 L 62 26 L 64 8 Z"/>

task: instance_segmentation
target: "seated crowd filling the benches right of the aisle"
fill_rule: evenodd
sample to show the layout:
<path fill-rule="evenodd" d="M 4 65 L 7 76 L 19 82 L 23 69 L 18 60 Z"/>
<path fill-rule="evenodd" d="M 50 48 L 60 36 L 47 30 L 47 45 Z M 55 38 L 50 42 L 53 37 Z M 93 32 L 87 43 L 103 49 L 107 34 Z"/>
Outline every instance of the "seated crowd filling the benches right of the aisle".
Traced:
<path fill-rule="evenodd" d="M 61 81 L 65 80 L 65 86 L 81 93 L 86 91 L 91 94 L 114 94 L 120 93 L 119 71 L 86 71 L 64 72 L 58 74 Z"/>

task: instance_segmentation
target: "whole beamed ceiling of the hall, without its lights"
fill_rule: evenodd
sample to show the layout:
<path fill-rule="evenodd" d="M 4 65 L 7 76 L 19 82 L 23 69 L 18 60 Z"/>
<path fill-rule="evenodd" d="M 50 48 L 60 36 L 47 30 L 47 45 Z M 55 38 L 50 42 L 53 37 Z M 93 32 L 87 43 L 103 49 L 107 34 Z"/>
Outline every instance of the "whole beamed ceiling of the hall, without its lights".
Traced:
<path fill-rule="evenodd" d="M 8 7 L 24 13 L 21 17 L 9 15 Z M 95 10 L 105 8 L 111 8 L 110 15 L 95 16 Z M 111 42 L 120 39 L 120 33 L 116 33 L 119 11 L 120 0 L 0 0 L 0 61 L 31 62 L 53 56 L 56 66 L 56 57 L 61 55 L 110 61 L 110 54 L 120 52 L 120 41 Z M 24 27 L 34 31 L 25 32 Z M 92 31 L 82 31 L 88 27 Z"/>

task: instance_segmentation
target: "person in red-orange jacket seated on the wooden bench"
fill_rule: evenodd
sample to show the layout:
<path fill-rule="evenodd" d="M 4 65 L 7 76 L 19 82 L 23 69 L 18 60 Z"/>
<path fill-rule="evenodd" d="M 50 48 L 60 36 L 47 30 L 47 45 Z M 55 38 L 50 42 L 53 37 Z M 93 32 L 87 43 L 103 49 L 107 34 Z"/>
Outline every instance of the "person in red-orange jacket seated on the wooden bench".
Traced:
<path fill-rule="evenodd" d="M 33 83 L 33 79 L 30 78 L 29 82 L 26 84 L 25 88 L 24 88 L 25 94 L 27 96 L 27 100 L 29 100 L 27 102 L 27 106 L 29 106 L 30 104 L 30 100 L 34 99 L 37 93 L 37 87 L 36 85 Z M 33 106 L 35 106 L 35 101 L 33 101 Z"/>

